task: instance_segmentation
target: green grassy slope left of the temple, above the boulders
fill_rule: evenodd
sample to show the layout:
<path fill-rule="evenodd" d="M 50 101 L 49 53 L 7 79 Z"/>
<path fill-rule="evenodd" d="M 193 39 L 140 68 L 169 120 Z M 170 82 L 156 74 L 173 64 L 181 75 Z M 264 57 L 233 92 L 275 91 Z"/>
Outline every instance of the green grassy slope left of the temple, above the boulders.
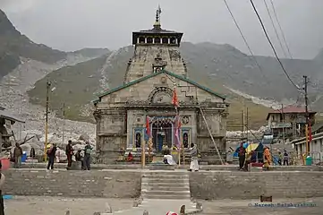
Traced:
<path fill-rule="evenodd" d="M 52 82 L 53 92 L 50 92 L 50 108 L 60 110 L 65 103 L 65 116 L 73 120 L 89 120 L 81 116 L 81 106 L 89 104 L 99 87 L 100 69 L 106 62 L 106 56 L 76 64 L 65 66 L 49 73 L 44 79 L 36 82 L 35 88 L 30 90 L 30 101 L 46 106 L 47 80 Z M 62 114 L 62 111 L 58 111 Z"/>

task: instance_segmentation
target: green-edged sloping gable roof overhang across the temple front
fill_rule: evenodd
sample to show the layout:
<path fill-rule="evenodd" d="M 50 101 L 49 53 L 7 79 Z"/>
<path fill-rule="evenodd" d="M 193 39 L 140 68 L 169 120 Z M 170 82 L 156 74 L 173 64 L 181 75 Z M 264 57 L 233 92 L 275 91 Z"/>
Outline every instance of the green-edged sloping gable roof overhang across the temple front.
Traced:
<path fill-rule="evenodd" d="M 126 83 L 126 84 L 123 84 L 123 85 L 121 85 L 121 86 L 119 86 L 119 87 L 117 87 L 117 88 L 115 88 L 115 89 L 113 89 L 113 90 L 107 90 L 107 91 L 105 91 L 105 92 L 99 93 L 99 94 L 97 95 L 97 96 L 98 96 L 98 99 L 92 100 L 92 102 L 93 102 L 94 104 L 97 104 L 97 103 L 100 101 L 100 99 L 101 99 L 102 97 L 105 97 L 105 96 L 107 96 L 107 95 L 109 95 L 109 94 L 111 94 L 111 93 L 114 93 L 115 91 L 123 90 L 123 89 L 125 89 L 125 88 L 128 88 L 128 87 L 130 87 L 130 86 L 132 86 L 133 84 L 136 84 L 136 83 L 138 83 L 138 82 L 142 82 L 142 81 L 148 80 L 149 78 L 155 77 L 155 76 L 157 76 L 158 74 L 161 74 L 161 73 L 166 73 L 167 75 L 172 76 L 172 77 L 174 77 L 174 78 L 177 78 L 177 79 L 179 79 L 179 80 L 181 80 L 181 81 L 183 81 L 183 82 L 191 83 L 191 85 L 196 86 L 197 88 L 200 88 L 201 90 L 206 90 L 206 91 L 208 91 L 208 93 L 210 93 L 211 95 L 216 96 L 216 97 L 218 97 L 218 98 L 221 98 L 221 99 L 223 99 L 223 100 L 225 101 L 225 96 L 224 96 L 224 95 L 221 95 L 221 94 L 219 94 L 219 93 L 217 93 L 217 92 L 215 92 L 215 91 L 213 91 L 213 90 L 210 90 L 210 89 L 208 89 L 207 87 L 202 86 L 202 85 L 200 85 L 200 84 L 199 84 L 199 83 L 197 83 L 197 82 L 193 82 L 193 81 L 191 81 L 190 79 L 183 77 L 182 75 L 178 75 L 178 74 L 175 74 L 175 73 L 172 73 L 172 72 L 166 71 L 166 70 L 162 70 L 162 71 L 160 71 L 160 72 L 158 72 L 158 73 L 151 73 L 150 75 L 147 75 L 147 76 L 145 76 L 145 77 L 142 77 L 142 78 L 140 78 L 140 79 L 137 79 L 137 80 L 135 80 L 135 81 L 133 81 L 133 82 L 128 82 L 128 83 Z"/>

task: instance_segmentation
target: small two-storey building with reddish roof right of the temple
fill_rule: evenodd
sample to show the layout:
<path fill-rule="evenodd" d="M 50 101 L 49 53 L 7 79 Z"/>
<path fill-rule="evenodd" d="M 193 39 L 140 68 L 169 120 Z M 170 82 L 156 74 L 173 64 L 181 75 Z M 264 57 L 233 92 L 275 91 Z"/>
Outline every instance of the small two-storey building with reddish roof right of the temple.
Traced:
<path fill-rule="evenodd" d="M 315 125 L 316 112 L 309 110 L 309 115 L 310 125 Z M 288 106 L 273 110 L 268 113 L 267 121 L 274 138 L 282 138 L 283 131 L 286 139 L 305 135 L 305 107 Z"/>

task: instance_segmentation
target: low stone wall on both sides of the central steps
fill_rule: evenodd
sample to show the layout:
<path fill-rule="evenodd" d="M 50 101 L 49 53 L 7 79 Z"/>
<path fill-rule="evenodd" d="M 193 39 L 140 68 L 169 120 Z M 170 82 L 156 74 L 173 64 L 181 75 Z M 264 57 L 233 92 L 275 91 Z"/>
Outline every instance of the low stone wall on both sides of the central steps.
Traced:
<path fill-rule="evenodd" d="M 310 167 L 308 167 L 310 168 Z M 3 194 L 65 197 L 135 198 L 140 196 L 141 172 L 135 170 L 9 169 Z M 275 199 L 323 197 L 322 171 L 209 171 L 190 173 L 195 199 Z"/>

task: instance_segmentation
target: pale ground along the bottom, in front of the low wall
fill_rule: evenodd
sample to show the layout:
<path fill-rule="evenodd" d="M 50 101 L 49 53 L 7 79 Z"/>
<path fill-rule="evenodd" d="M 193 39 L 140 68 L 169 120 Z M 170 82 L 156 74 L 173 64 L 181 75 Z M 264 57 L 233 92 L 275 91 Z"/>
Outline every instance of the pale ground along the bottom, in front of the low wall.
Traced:
<path fill-rule="evenodd" d="M 132 209 L 133 199 L 104 199 L 104 198 L 64 198 L 64 197 L 44 197 L 44 196 L 13 196 L 12 200 L 5 200 L 6 214 L 18 215 L 23 214 L 47 214 L 47 215 L 64 215 L 66 211 L 70 211 L 71 215 L 92 215 L 95 211 L 105 211 L 106 202 L 111 205 L 113 211 L 119 211 L 115 214 L 133 215 L 139 212 L 138 209 Z M 174 207 L 176 201 L 159 201 L 161 205 L 169 205 Z M 323 210 L 323 198 L 310 199 L 280 199 L 273 202 L 306 202 L 315 204 L 316 207 L 254 207 L 249 206 L 259 200 L 217 200 L 217 201 L 201 201 L 203 211 L 199 214 L 217 214 L 217 215 L 319 215 Z M 178 210 L 180 205 L 178 205 Z M 139 208 L 140 209 L 140 208 Z M 151 208 L 149 214 L 155 214 L 155 208 Z M 140 213 L 138 213 L 140 214 Z M 142 214 L 142 213 L 141 213 Z"/>

